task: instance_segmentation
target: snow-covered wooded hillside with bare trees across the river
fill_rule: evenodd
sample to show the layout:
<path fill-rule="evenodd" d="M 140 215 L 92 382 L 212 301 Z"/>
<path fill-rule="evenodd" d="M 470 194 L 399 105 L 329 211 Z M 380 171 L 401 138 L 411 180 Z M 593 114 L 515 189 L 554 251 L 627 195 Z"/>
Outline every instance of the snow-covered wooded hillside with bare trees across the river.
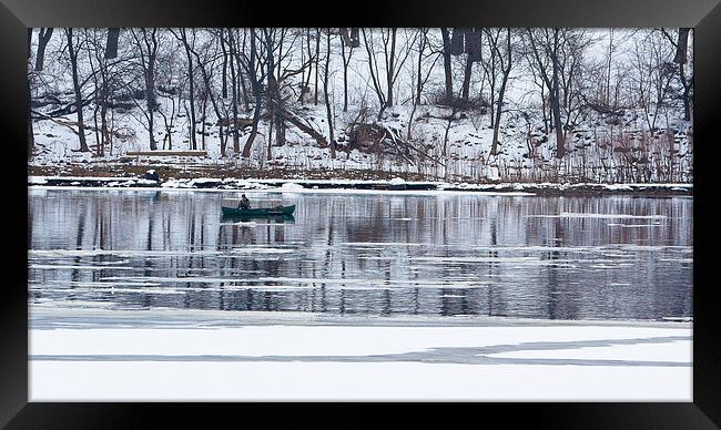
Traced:
<path fill-rule="evenodd" d="M 29 34 L 30 166 L 693 181 L 688 29 L 146 30 Z"/>

